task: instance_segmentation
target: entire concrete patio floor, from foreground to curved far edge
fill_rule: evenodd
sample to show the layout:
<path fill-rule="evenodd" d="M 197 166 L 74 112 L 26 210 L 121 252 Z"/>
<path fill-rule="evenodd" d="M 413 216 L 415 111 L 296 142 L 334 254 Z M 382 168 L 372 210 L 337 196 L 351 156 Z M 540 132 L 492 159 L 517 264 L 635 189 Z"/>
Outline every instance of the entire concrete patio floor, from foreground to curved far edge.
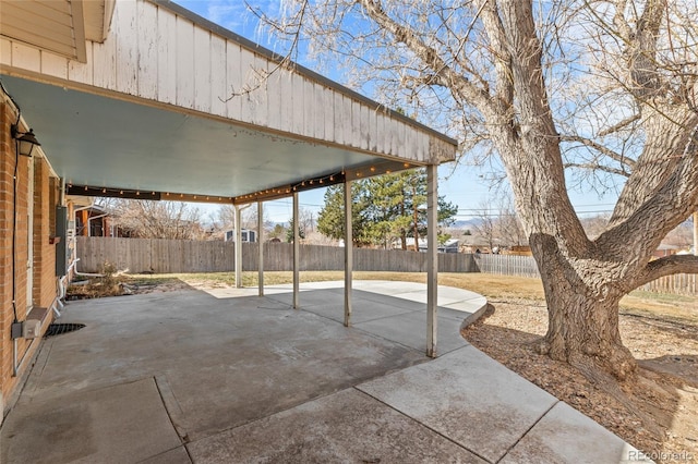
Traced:
<path fill-rule="evenodd" d="M 593 420 L 470 346 L 486 303 L 440 289 L 447 353 L 424 356 L 426 285 L 359 281 L 73 302 L 0 435 L 2 462 L 621 462 Z M 392 327 L 392 330 L 385 330 Z M 582 460 L 579 456 L 583 456 Z"/>

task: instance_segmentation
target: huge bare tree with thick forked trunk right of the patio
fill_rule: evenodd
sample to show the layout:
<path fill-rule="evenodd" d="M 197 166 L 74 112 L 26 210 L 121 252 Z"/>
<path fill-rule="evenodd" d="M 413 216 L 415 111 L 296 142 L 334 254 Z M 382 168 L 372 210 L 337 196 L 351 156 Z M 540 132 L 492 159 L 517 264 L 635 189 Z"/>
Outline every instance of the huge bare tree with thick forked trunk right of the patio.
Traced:
<path fill-rule="evenodd" d="M 501 159 L 545 289 L 539 349 L 590 377 L 636 362 L 618 331 L 633 289 L 698 258 L 650 260 L 698 209 L 698 4 L 677 0 L 282 1 L 275 30 L 350 63 L 348 80 Z M 268 20 L 264 19 L 263 20 Z M 329 53 L 326 53 L 329 52 Z M 591 240 L 570 182 L 618 188 Z"/>

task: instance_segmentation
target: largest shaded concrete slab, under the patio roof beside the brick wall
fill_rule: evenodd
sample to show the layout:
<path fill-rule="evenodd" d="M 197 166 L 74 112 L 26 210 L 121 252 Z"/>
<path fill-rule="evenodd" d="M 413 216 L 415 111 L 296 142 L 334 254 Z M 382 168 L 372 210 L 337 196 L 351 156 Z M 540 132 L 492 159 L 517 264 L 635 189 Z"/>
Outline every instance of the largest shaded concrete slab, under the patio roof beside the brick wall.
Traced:
<path fill-rule="evenodd" d="M 49 339 L 26 396 L 63 395 L 157 377 L 173 422 L 193 440 L 334 393 L 423 353 L 258 296 L 204 292 L 75 302 L 64 321 L 87 327 Z M 60 388 L 59 388 L 60 387 Z"/>

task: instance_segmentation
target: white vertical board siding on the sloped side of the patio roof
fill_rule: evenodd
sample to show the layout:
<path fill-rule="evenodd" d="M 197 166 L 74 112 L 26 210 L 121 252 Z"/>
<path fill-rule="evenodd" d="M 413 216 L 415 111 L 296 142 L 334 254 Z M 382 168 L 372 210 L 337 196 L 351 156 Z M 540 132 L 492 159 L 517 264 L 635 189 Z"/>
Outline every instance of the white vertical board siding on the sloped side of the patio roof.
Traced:
<path fill-rule="evenodd" d="M 0 63 L 65 87 L 116 90 L 411 161 L 454 156 L 453 146 L 428 130 L 312 74 L 276 70 L 267 56 L 146 0 L 117 2 L 107 39 L 87 42 L 87 63 L 5 38 Z"/>

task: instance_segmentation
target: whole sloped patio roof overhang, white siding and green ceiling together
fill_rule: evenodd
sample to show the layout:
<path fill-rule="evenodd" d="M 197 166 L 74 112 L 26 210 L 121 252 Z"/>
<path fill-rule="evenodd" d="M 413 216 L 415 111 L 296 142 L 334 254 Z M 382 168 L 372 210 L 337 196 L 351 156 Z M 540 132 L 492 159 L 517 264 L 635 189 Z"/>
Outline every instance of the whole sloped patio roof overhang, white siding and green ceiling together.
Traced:
<path fill-rule="evenodd" d="M 455 158 L 455 141 L 166 1 L 118 2 L 85 64 L 2 35 L 0 78 L 70 194 L 245 204 Z"/>

